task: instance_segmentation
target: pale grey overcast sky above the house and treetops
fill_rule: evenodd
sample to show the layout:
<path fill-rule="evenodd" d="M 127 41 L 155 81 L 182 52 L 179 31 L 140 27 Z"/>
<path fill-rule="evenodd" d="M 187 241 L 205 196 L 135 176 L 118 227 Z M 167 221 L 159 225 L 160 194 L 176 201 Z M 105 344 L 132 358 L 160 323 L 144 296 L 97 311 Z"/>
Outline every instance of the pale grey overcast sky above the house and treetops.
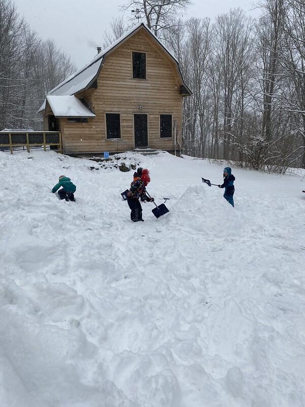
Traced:
<path fill-rule="evenodd" d="M 102 42 L 103 32 L 112 17 L 121 15 L 119 6 L 125 0 L 14 0 L 20 15 L 43 40 L 51 38 L 72 57 L 77 68 L 89 62 Z M 211 17 L 240 7 L 249 14 L 253 0 L 193 0 L 187 17 Z M 128 13 L 129 14 L 129 13 Z M 128 15 L 126 15 L 128 16 Z M 95 44 L 95 45 L 94 45 Z"/>

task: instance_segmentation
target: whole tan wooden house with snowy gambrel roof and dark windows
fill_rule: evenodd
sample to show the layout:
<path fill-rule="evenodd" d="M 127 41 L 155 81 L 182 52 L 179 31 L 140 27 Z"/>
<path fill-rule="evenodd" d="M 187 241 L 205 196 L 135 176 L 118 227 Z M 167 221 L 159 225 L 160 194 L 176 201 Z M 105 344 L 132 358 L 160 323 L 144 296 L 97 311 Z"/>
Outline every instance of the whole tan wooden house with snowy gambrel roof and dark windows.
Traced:
<path fill-rule="evenodd" d="M 188 95 L 175 56 L 141 23 L 50 91 L 40 111 L 66 154 L 173 151 Z"/>

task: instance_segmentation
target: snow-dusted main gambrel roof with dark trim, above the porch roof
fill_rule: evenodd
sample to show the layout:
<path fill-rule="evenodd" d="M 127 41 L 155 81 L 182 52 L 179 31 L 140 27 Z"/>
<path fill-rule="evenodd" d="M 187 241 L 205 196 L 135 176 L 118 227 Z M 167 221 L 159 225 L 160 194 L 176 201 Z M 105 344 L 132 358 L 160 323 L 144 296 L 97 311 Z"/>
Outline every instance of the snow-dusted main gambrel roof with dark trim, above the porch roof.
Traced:
<path fill-rule="evenodd" d="M 104 57 L 106 54 L 108 54 L 110 51 L 112 51 L 114 48 L 116 48 L 118 45 L 120 45 L 122 42 L 126 41 L 129 37 L 137 33 L 141 28 L 144 28 L 146 32 L 153 37 L 159 45 L 165 50 L 165 52 L 175 61 L 178 67 L 179 75 L 181 82 L 183 86 L 185 87 L 186 91 L 189 93 L 189 95 L 192 94 L 190 89 L 188 88 L 187 84 L 184 82 L 184 79 L 182 77 L 180 67 L 178 60 L 174 56 L 173 53 L 171 53 L 161 42 L 160 40 L 153 34 L 149 28 L 144 24 L 144 23 L 139 23 L 135 27 L 133 27 L 130 31 L 125 33 L 123 36 L 121 36 L 118 40 L 116 40 L 114 43 L 112 43 L 108 48 L 104 49 L 102 52 L 98 53 L 92 61 L 90 61 L 87 65 L 85 65 L 83 68 L 69 76 L 67 79 L 65 79 L 62 83 L 59 83 L 59 85 L 56 86 L 56 88 L 52 89 L 48 95 L 74 95 L 80 91 L 84 91 L 92 85 L 92 83 L 96 80 L 100 69 L 103 64 Z M 40 110 L 43 110 L 43 106 L 40 108 Z M 39 111 L 40 111 L 39 110 Z"/>

